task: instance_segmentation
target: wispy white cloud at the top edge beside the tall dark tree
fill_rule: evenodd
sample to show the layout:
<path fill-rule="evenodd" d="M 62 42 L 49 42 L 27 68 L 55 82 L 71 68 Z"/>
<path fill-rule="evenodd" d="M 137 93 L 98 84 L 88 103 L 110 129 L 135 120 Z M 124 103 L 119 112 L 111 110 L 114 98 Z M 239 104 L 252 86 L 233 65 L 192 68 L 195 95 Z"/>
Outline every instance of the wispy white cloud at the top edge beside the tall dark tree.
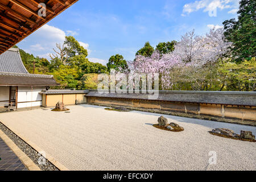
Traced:
<path fill-rule="evenodd" d="M 241 0 L 201 0 L 201 1 L 195 1 L 192 3 L 185 4 L 183 6 L 183 14 L 188 15 L 192 12 L 198 11 L 200 9 L 203 9 L 204 12 L 208 12 L 210 14 L 214 14 L 217 9 L 231 9 L 231 8 L 237 8 L 239 6 L 239 2 Z M 233 10 L 232 10 L 233 12 Z M 216 16 L 216 15 L 213 15 Z"/>

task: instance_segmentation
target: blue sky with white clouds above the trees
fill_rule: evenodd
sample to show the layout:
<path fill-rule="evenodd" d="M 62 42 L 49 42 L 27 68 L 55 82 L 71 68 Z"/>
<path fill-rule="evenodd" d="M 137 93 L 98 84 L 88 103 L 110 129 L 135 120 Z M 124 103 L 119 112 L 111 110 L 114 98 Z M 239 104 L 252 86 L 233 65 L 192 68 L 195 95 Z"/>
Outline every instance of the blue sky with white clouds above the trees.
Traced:
<path fill-rule="evenodd" d="M 239 0 L 80 0 L 22 42 L 19 48 L 34 56 L 53 53 L 56 43 L 74 36 L 86 49 L 90 61 L 106 64 L 117 53 L 133 60 L 149 41 L 179 40 L 195 29 L 203 35 L 211 27 L 236 18 Z"/>

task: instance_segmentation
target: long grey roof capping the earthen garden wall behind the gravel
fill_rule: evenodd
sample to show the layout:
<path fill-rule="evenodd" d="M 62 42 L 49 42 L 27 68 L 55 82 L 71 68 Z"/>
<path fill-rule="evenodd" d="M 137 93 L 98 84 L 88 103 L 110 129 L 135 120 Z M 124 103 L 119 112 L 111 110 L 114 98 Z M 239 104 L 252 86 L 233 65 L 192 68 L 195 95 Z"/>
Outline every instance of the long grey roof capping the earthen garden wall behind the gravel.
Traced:
<path fill-rule="evenodd" d="M 125 98 L 133 100 L 149 100 L 151 94 L 139 93 L 108 93 L 89 92 L 86 97 L 105 97 L 105 98 Z M 191 92 L 191 91 L 164 91 L 159 92 L 158 101 L 187 102 L 198 104 L 218 104 L 218 105 L 242 105 L 256 106 L 256 92 Z"/>

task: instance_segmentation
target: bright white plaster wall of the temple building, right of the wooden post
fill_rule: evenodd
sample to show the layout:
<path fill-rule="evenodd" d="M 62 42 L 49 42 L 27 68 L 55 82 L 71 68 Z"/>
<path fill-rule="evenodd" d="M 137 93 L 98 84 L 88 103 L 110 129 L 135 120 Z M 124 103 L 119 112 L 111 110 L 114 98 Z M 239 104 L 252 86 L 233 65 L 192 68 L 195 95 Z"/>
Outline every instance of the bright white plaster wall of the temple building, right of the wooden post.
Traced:
<path fill-rule="evenodd" d="M 18 88 L 18 109 L 24 107 L 35 107 L 42 106 L 42 95 L 39 94 L 42 90 L 46 90 L 46 87 L 24 87 L 19 86 Z M 37 101 L 37 102 L 31 102 Z"/>

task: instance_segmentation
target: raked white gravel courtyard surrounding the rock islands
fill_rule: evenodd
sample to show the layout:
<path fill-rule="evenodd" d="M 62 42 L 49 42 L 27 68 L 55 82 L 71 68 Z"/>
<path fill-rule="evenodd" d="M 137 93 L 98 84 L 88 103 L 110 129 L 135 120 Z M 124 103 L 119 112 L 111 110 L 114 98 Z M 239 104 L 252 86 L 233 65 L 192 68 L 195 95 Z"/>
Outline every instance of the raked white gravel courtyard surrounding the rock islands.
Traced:
<path fill-rule="evenodd" d="M 256 143 L 208 133 L 228 128 L 255 135 L 256 127 L 164 115 L 185 129 L 172 133 L 152 126 L 160 114 L 68 108 L 71 113 L 1 113 L 0 121 L 71 170 L 256 170 Z M 208 165 L 210 151 L 217 152 L 217 165 Z"/>

